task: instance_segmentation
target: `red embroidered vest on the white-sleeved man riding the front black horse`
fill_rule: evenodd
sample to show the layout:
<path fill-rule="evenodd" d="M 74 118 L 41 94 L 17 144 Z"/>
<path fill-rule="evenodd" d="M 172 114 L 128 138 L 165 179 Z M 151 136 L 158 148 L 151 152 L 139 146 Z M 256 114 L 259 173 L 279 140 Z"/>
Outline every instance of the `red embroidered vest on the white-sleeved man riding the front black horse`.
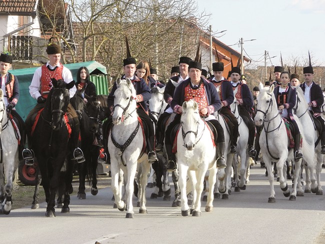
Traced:
<path fill-rule="evenodd" d="M 56 68 L 52 71 L 47 68 L 46 64 L 44 64 L 41 66 L 41 70 L 40 94 L 42 97 L 47 98 L 49 90 L 52 88 L 51 78 L 61 79 L 63 66 L 60 64 L 60 66 L 56 66 Z"/>

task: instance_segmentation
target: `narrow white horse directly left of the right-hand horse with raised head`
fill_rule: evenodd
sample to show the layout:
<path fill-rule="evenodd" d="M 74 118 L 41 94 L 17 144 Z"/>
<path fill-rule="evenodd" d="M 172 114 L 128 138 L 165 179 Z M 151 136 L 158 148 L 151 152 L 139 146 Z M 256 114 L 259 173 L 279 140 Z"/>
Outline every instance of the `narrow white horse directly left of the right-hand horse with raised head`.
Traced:
<path fill-rule="evenodd" d="M 239 135 L 237 139 L 237 148 L 236 148 L 236 155 L 233 157 L 233 167 L 235 171 L 235 191 L 239 191 L 239 189 L 246 189 L 246 180 L 248 180 L 247 172 L 249 170 L 249 157 L 248 157 L 248 149 L 247 149 L 247 142 L 248 142 L 248 127 L 243 121 L 242 117 L 239 115 L 237 99 L 234 98 L 233 102 L 230 104 L 231 112 L 238 120 L 238 130 Z M 240 158 L 240 168 L 238 170 L 238 156 Z M 240 176 L 240 179 L 239 179 Z M 238 189 L 239 188 L 239 189 Z"/>

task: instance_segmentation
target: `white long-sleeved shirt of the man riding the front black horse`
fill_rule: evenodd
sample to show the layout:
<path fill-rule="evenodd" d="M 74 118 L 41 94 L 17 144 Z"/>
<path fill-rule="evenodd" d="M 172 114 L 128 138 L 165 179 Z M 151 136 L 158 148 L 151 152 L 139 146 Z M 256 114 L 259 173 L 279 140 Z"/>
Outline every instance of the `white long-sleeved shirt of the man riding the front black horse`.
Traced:
<path fill-rule="evenodd" d="M 61 64 L 57 64 L 56 66 L 60 66 Z M 46 66 L 49 66 L 51 69 L 53 69 L 55 66 L 51 66 L 48 62 L 46 63 Z M 41 96 L 40 94 L 40 77 L 41 77 L 41 67 L 38 67 L 35 72 L 34 75 L 32 76 L 32 80 L 31 83 L 29 85 L 29 94 L 31 95 L 31 97 L 37 99 L 39 96 Z M 72 78 L 72 74 L 71 71 L 63 66 L 62 69 L 62 79 L 64 80 L 65 83 L 69 83 L 73 80 Z M 70 98 L 72 96 L 74 96 L 76 91 L 76 87 L 75 85 L 73 85 L 72 88 L 69 89 L 69 93 L 70 93 Z"/>

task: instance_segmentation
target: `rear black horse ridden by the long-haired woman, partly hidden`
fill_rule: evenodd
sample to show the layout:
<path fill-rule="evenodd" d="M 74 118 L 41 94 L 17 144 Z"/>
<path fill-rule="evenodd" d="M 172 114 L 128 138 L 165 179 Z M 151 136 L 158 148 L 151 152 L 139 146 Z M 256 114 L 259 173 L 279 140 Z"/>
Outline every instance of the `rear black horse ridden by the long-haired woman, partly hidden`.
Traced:
<path fill-rule="evenodd" d="M 96 195 L 98 193 L 96 169 L 100 148 L 97 145 L 93 144 L 97 130 L 90 125 L 90 121 L 95 121 L 95 123 L 97 123 L 97 120 L 89 118 L 81 93 L 82 90 L 81 92 L 78 90 L 76 91 L 75 96 L 71 98 L 71 104 L 80 119 L 81 149 L 85 158 L 84 162 L 78 163 L 79 188 L 77 197 L 79 199 L 85 199 L 86 178 L 89 185 L 91 186 L 91 194 Z M 107 100 L 106 95 L 98 95 L 97 97 L 103 97 L 103 100 Z"/>

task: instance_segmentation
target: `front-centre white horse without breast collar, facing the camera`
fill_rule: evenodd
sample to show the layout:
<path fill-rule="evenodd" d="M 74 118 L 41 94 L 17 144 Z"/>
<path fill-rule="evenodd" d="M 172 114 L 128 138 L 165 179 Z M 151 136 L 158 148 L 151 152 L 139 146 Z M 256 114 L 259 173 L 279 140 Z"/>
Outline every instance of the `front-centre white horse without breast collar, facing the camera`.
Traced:
<path fill-rule="evenodd" d="M 193 204 L 190 208 L 192 216 L 201 215 L 201 193 L 203 179 L 207 169 L 210 169 L 209 184 L 214 185 L 216 175 L 216 151 L 206 122 L 200 118 L 197 103 L 193 100 L 182 104 L 180 118 L 181 126 L 177 134 L 177 164 L 179 171 L 179 187 L 181 197 L 181 215 L 189 214 L 186 196 L 186 176 L 192 184 Z M 207 196 L 205 211 L 212 210 L 213 192 Z"/>

